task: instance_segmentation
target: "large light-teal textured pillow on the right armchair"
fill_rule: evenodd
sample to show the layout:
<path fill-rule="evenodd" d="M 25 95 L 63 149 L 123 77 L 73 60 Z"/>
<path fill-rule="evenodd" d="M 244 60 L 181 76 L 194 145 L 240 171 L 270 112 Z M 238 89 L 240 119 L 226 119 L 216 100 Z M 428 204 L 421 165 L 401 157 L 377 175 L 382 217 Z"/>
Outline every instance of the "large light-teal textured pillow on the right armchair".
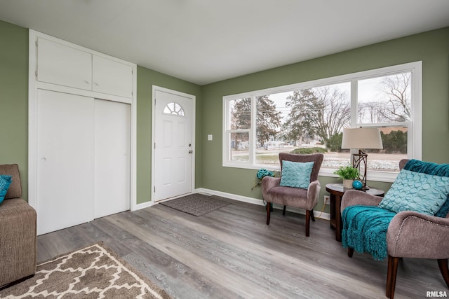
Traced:
<path fill-rule="evenodd" d="M 449 195 L 449 177 L 402 169 L 379 204 L 382 209 L 434 216 Z"/>

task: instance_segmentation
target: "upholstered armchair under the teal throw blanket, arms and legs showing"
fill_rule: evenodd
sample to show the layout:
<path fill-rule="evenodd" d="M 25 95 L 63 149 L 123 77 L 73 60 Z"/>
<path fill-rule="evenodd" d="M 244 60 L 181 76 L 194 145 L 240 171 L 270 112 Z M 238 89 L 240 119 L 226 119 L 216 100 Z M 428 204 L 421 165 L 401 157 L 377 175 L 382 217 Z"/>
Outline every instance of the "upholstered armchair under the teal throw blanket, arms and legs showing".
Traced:
<path fill-rule="evenodd" d="M 400 169 L 408 160 L 399 162 Z M 342 197 L 341 211 L 349 206 L 377 206 L 382 197 L 358 190 L 347 190 Z M 449 212 L 444 216 L 429 216 L 417 211 L 399 211 L 389 222 L 387 235 L 387 288 L 388 298 L 394 298 L 398 261 L 401 258 L 429 258 L 438 260 L 438 267 L 449 287 Z M 352 257 L 354 248 L 348 247 Z M 403 261 L 406 263 L 406 261 Z"/>

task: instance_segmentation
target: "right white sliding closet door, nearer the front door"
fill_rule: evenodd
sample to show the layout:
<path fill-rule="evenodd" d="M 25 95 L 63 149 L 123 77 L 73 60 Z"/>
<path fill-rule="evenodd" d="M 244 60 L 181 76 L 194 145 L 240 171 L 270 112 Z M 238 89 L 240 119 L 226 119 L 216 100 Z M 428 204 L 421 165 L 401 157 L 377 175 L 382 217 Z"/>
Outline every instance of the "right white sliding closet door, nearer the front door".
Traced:
<path fill-rule="evenodd" d="M 130 104 L 95 99 L 95 218 L 130 209 Z"/>

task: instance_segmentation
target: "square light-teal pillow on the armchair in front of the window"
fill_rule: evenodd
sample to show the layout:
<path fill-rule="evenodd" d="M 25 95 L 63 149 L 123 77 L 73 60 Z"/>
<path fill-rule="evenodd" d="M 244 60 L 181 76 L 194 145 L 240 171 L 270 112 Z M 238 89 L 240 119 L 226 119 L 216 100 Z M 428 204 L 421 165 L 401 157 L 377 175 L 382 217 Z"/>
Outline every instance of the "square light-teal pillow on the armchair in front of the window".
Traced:
<path fill-rule="evenodd" d="M 311 169 L 314 162 L 282 161 L 281 186 L 309 188 Z"/>

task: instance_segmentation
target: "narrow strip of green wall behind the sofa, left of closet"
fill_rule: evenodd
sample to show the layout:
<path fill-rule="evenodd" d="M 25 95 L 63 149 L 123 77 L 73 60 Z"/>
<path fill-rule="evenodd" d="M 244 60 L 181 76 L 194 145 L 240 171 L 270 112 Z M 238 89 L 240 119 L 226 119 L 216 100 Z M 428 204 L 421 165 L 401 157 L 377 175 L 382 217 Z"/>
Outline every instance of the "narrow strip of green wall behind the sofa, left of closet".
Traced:
<path fill-rule="evenodd" d="M 28 198 L 28 29 L 0 21 L 0 164 L 19 165 Z"/>

